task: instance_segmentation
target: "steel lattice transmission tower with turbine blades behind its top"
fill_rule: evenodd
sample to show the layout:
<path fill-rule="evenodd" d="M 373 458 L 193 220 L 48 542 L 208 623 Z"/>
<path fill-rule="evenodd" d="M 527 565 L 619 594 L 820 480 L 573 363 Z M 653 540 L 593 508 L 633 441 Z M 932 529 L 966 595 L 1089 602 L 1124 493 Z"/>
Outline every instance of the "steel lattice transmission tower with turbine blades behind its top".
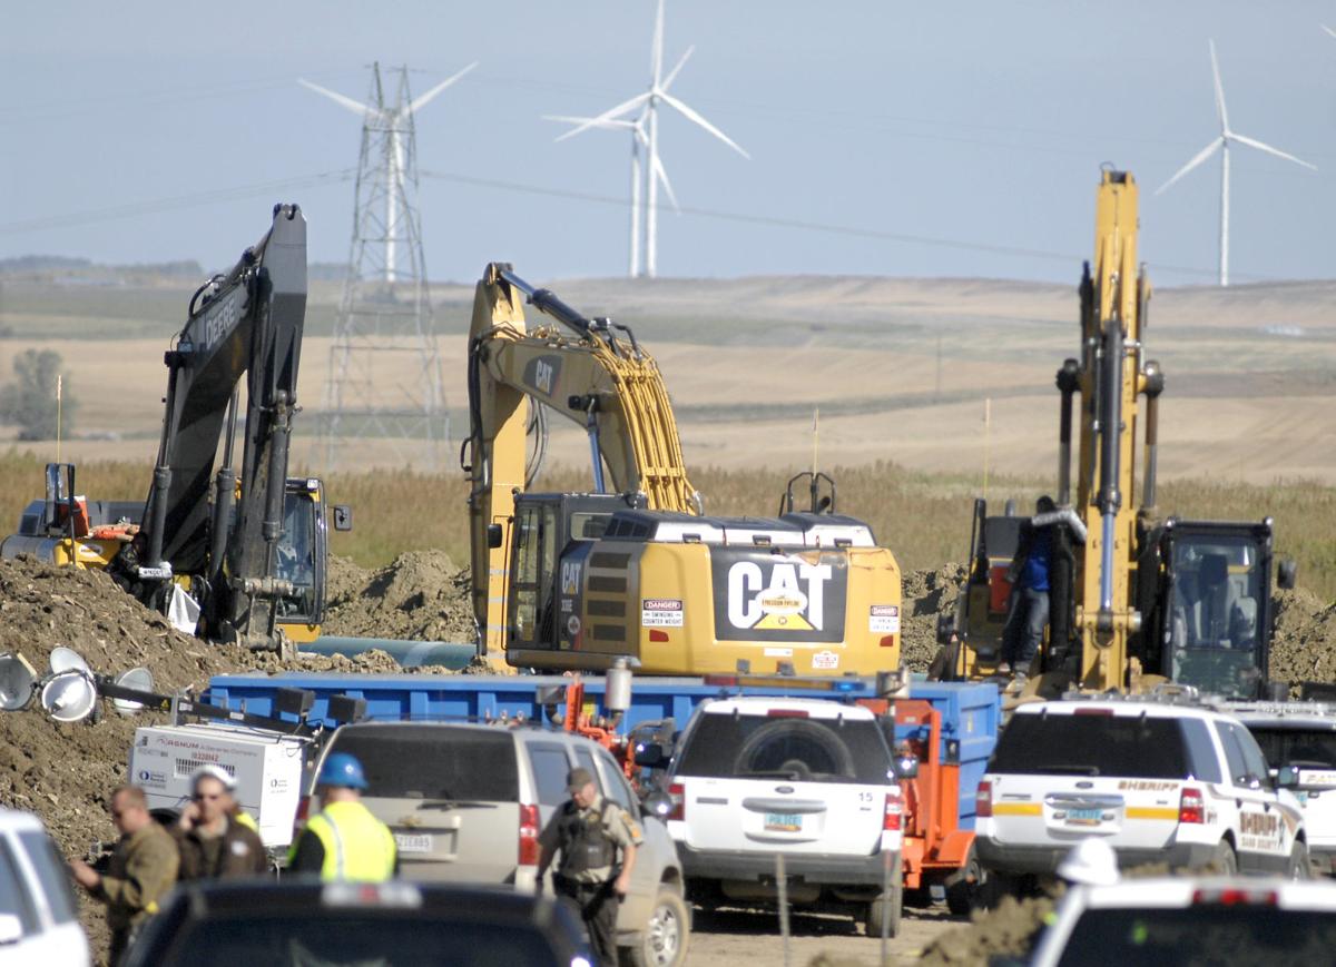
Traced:
<path fill-rule="evenodd" d="M 441 390 L 441 358 L 432 323 L 422 220 L 417 210 L 414 115 L 456 80 L 413 100 L 406 67 L 371 65 L 366 103 L 306 80 L 302 85 L 362 116 L 353 246 L 330 346 L 321 426 L 325 467 L 339 465 L 351 439 L 381 438 L 403 463 L 437 469 L 450 427 Z M 386 80 L 394 93 L 387 98 Z"/>

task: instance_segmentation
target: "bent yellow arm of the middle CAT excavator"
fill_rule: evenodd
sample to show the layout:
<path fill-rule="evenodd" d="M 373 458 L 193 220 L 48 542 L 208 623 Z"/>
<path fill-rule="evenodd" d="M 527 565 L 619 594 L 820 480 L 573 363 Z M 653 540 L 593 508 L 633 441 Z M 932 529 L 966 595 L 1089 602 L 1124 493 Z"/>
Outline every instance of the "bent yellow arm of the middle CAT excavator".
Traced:
<path fill-rule="evenodd" d="M 524 303 L 557 326 L 526 329 Z M 620 333 L 620 335 L 619 335 Z M 596 493 L 643 494 L 651 510 L 700 513 L 659 366 L 629 329 L 588 319 L 508 263 L 478 282 L 469 329 L 468 457 L 473 610 L 481 645 L 504 652 L 514 496 L 525 479 L 528 407 L 585 427 Z"/>

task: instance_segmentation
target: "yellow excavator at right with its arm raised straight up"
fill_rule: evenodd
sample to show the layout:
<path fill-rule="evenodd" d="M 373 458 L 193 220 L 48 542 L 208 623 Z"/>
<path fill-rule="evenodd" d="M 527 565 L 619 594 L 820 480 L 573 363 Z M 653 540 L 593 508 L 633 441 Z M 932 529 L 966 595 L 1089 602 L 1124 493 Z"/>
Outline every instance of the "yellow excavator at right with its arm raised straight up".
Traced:
<path fill-rule="evenodd" d="M 1081 279 L 1081 357 L 1058 370 L 1062 402 L 1053 512 L 989 516 L 975 501 L 966 586 L 943 641 L 942 677 L 997 674 L 1011 558 L 1022 528 L 1050 532 L 1049 634 L 1027 691 L 1142 691 L 1173 681 L 1256 697 L 1267 687 L 1272 634 L 1272 520 L 1193 521 L 1156 506 L 1158 398 L 1165 379 L 1146 357 L 1150 282 L 1137 262 L 1137 184 L 1105 170 L 1096 200 L 1094 263 Z M 1079 397 L 1075 501 L 1073 406 Z M 1144 479 L 1137 489 L 1137 433 Z M 1291 588 L 1295 565 L 1279 566 Z"/>

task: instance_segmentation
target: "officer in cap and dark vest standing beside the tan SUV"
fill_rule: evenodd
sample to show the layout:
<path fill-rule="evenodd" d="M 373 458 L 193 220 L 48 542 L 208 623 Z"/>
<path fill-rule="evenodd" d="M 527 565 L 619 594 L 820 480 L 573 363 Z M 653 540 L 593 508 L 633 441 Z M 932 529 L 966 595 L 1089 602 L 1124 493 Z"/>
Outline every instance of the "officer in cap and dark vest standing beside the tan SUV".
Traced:
<path fill-rule="evenodd" d="M 589 769 L 572 769 L 566 789 L 570 799 L 553 813 L 538 837 L 538 890 L 560 852 L 553 886 L 580 908 L 589 947 L 603 967 L 611 967 L 617 963 L 617 908 L 631 888 L 636 847 L 643 836 L 625 809 L 599 795 Z"/>

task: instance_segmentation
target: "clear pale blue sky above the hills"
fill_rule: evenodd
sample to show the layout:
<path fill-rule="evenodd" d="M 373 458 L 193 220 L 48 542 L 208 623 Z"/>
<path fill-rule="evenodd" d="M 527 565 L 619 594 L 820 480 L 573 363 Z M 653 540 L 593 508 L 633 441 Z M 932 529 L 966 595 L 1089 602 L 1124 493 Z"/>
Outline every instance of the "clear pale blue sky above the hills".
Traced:
<path fill-rule="evenodd" d="M 667 64 L 696 45 L 673 93 L 752 159 L 661 115 L 679 200 L 727 218 L 663 210 L 660 275 L 1074 282 L 1098 166 L 1114 162 L 1142 186 L 1153 278 L 1210 282 L 1218 156 L 1153 191 L 1218 134 L 1214 37 L 1233 130 L 1319 166 L 1233 150 L 1233 280 L 1329 278 L 1324 20 L 1336 4 L 668 0 Z M 11 4 L 0 258 L 215 270 L 273 202 L 297 200 L 311 259 L 343 262 L 353 183 L 337 176 L 357 164 L 359 120 L 297 77 L 361 100 L 373 60 L 413 68 L 414 92 L 480 60 L 417 118 L 430 276 L 473 279 L 497 259 L 534 280 L 624 274 L 629 135 L 556 144 L 562 128 L 541 115 L 643 91 L 652 21 L 653 0 Z"/>

